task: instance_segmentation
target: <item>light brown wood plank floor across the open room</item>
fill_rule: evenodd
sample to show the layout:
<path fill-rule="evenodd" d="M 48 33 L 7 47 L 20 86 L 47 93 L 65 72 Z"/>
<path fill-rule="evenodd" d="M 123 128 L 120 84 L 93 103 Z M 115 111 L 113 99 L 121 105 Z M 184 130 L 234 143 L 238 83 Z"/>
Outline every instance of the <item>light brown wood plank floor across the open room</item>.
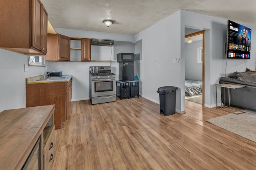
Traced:
<path fill-rule="evenodd" d="M 72 102 L 51 169 L 256 169 L 256 143 L 205 121 L 228 112 L 185 102 L 186 114 L 169 116 L 142 97 Z"/>

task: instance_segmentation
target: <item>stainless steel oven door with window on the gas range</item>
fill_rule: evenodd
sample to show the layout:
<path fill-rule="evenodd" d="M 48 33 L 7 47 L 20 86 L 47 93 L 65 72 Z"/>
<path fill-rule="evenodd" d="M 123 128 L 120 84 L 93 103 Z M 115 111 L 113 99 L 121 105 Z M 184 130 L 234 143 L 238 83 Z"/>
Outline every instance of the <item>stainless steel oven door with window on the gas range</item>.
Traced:
<path fill-rule="evenodd" d="M 115 78 L 92 79 L 92 98 L 116 95 Z"/>

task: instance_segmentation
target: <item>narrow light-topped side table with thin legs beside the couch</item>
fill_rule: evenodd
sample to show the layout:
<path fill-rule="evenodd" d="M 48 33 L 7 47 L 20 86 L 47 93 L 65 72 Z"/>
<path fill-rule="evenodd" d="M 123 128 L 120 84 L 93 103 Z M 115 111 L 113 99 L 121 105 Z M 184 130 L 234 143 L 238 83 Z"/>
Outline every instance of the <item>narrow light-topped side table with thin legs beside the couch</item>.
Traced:
<path fill-rule="evenodd" d="M 236 85 L 236 84 L 226 84 L 226 83 L 221 83 L 221 84 L 215 84 L 215 90 L 216 90 L 216 108 L 221 108 L 222 109 L 222 103 L 220 104 L 221 106 L 218 107 L 218 102 L 217 102 L 217 87 L 223 88 L 223 103 L 224 103 L 224 107 L 225 107 L 225 88 L 228 88 L 228 108 L 230 108 L 230 88 L 232 89 L 236 89 L 236 88 L 244 88 L 245 86 L 241 86 L 241 85 Z M 221 94 L 220 94 L 221 95 Z M 220 96 L 221 98 L 221 96 Z M 230 108 L 232 109 L 232 108 Z M 236 110 L 236 109 L 233 109 Z M 238 110 L 236 110 L 238 111 Z M 233 112 L 232 112 L 233 113 Z M 243 113 L 243 111 L 238 111 L 236 112 L 236 114 L 238 113 Z"/>

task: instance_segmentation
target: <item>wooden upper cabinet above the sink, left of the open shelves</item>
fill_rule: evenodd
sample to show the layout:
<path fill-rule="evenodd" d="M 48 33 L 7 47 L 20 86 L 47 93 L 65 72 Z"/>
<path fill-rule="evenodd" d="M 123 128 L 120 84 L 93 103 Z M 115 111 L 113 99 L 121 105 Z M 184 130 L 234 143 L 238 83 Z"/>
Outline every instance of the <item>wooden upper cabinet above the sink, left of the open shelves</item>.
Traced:
<path fill-rule="evenodd" d="M 70 37 L 48 34 L 45 61 L 70 61 Z"/>

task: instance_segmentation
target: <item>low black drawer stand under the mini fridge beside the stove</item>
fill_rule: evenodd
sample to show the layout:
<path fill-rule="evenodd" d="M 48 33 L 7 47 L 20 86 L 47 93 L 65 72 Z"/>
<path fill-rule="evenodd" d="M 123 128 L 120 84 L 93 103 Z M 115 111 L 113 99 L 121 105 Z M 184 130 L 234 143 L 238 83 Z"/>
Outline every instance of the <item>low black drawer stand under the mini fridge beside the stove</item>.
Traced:
<path fill-rule="evenodd" d="M 123 98 L 139 97 L 139 81 L 116 80 L 116 96 Z"/>

